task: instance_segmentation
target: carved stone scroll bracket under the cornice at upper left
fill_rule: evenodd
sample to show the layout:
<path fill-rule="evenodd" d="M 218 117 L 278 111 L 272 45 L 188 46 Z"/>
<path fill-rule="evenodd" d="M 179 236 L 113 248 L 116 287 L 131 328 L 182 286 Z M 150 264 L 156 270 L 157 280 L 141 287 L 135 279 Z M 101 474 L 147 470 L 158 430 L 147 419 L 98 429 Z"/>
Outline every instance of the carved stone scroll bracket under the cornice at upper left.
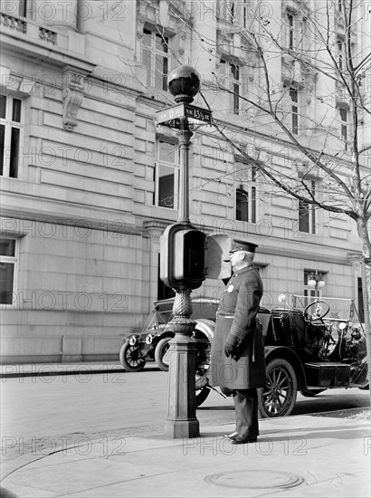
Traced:
<path fill-rule="evenodd" d="M 63 128 L 73 131 L 77 126 L 77 112 L 84 97 L 84 77 L 77 72 L 66 72 L 63 88 Z"/>

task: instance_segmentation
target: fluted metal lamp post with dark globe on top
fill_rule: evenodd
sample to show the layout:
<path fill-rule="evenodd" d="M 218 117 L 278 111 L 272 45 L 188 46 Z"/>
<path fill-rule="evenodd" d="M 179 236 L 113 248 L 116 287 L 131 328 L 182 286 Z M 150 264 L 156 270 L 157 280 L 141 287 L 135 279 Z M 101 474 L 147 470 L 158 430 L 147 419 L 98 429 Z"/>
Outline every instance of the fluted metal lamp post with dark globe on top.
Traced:
<path fill-rule="evenodd" d="M 176 136 L 179 139 L 179 161 L 181 169 L 179 218 L 177 224 L 182 229 L 193 228 L 189 220 L 189 146 L 193 132 L 189 129 L 186 111 L 192 113 L 194 100 L 200 89 L 200 77 L 194 68 L 179 66 L 167 78 L 168 89 L 179 104 L 175 111 Z M 194 108 L 195 109 L 195 108 Z M 190 338 L 195 329 L 191 319 L 192 302 L 190 284 L 185 281 L 176 285 L 176 299 L 173 307 L 174 318 L 169 326 L 175 332 L 169 349 L 169 381 L 167 417 L 165 423 L 168 437 L 199 436 L 199 423 L 195 416 L 195 341 Z"/>

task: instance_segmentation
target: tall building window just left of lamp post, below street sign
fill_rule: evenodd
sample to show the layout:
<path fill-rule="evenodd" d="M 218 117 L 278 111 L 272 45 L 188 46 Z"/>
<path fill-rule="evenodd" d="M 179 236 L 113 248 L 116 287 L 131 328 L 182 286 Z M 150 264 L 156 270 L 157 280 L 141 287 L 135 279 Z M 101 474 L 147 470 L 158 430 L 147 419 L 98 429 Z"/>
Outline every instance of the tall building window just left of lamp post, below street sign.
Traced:
<path fill-rule="evenodd" d="M 155 205 L 177 209 L 178 147 L 176 143 L 157 141 Z"/>

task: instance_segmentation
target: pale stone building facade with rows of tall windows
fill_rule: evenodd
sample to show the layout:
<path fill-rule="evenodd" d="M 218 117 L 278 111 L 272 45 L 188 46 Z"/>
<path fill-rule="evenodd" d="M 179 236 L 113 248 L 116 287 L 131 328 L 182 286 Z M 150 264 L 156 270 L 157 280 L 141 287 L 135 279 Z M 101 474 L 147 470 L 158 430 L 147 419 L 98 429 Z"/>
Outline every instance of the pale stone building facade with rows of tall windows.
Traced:
<path fill-rule="evenodd" d="M 169 295 L 158 278 L 159 237 L 177 219 L 178 151 L 176 133 L 156 126 L 156 112 L 175 103 L 166 91 L 172 68 L 195 66 L 214 119 L 262 160 L 293 170 L 287 140 L 215 91 L 215 73 L 240 95 L 259 88 L 243 25 L 254 4 L 3 0 L 2 362 L 117 359 L 123 337 Z M 290 43 L 302 5 L 316 2 L 269 4 L 266 15 L 282 19 Z M 271 64 L 277 81 L 289 79 L 287 57 Z M 322 74 L 307 76 L 319 93 L 328 84 Z M 292 126 L 300 127 L 295 113 L 303 106 L 329 119 L 319 101 L 299 93 L 290 94 Z M 195 105 L 205 106 L 202 96 Z M 341 139 L 347 122 L 328 126 Z M 197 129 L 192 141 L 191 220 L 208 234 L 259 244 L 263 305 L 275 306 L 282 293 L 310 293 L 314 273 L 326 284 L 314 292 L 361 307 L 356 225 L 300 211 L 245 168 L 213 127 Z M 206 279 L 195 293 L 217 297 L 222 289 Z"/>

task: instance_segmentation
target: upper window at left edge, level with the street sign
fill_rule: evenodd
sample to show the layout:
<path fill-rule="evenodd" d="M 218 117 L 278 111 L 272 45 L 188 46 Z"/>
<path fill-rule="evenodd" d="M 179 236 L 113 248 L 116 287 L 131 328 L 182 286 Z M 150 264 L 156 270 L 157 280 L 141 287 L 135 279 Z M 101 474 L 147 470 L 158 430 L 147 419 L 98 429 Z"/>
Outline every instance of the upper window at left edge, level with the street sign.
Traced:
<path fill-rule="evenodd" d="M 0 95 L 0 175 L 17 178 L 22 140 L 23 102 Z"/>

